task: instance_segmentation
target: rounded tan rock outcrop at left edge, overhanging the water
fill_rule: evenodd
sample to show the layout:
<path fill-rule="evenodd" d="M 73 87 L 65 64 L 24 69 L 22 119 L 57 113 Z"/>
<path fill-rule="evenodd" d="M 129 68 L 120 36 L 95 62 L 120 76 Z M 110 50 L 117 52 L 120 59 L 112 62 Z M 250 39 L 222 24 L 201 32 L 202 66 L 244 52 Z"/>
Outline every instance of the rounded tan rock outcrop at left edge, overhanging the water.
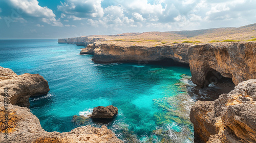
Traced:
<path fill-rule="evenodd" d="M 29 107 L 29 97 L 47 94 L 48 82 L 39 74 L 17 75 L 11 69 L 0 67 L 0 101 L 4 102 L 4 89 L 8 88 L 8 100 L 13 105 Z"/>

